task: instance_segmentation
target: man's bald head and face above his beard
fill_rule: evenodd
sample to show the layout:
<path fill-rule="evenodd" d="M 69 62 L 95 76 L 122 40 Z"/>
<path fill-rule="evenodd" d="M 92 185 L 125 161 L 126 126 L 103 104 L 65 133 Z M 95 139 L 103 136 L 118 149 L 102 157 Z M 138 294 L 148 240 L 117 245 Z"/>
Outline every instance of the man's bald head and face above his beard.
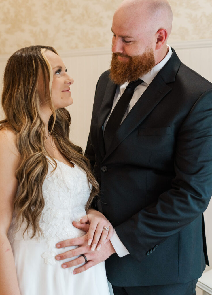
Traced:
<path fill-rule="evenodd" d="M 135 56 L 151 49 L 159 63 L 167 54 L 172 18 L 167 0 L 124 0 L 113 17 L 112 51 Z"/>

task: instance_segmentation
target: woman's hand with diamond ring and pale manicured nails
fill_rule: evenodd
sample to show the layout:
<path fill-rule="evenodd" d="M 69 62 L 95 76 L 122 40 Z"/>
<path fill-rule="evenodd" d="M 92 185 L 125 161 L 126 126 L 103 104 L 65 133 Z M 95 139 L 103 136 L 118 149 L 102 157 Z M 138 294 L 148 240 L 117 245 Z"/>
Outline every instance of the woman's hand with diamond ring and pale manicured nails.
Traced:
<path fill-rule="evenodd" d="M 91 246 L 91 250 L 99 250 L 101 245 L 109 241 L 113 235 L 114 229 L 112 224 L 101 212 L 95 209 L 89 209 L 88 214 L 80 218 L 80 228 L 83 223 L 90 224 L 87 236 L 88 246 Z M 74 222 L 73 225 L 78 227 L 77 222 Z M 108 227 L 109 231 L 106 229 L 103 230 L 105 227 Z"/>

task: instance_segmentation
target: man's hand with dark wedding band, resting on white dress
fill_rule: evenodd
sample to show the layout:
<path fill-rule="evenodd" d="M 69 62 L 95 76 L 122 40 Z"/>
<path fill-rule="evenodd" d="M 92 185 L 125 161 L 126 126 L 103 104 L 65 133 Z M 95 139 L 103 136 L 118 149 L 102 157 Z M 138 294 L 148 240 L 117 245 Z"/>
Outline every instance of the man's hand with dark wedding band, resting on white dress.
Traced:
<path fill-rule="evenodd" d="M 80 228 L 84 230 L 85 232 L 89 229 L 89 224 L 80 224 L 80 223 L 74 223 L 74 226 L 77 228 Z M 73 250 L 58 254 L 55 258 L 56 260 L 63 260 L 66 258 L 71 258 L 74 256 L 82 255 L 84 254 L 88 260 L 87 263 L 85 263 L 83 266 L 80 266 L 79 268 L 75 268 L 73 274 L 81 273 L 83 271 L 86 271 L 88 268 L 91 268 L 92 266 L 106 260 L 110 255 L 115 253 L 115 250 L 113 248 L 113 245 L 110 241 L 106 242 L 101 246 L 100 250 L 91 250 L 91 246 L 88 246 L 88 234 L 68 239 L 62 242 L 59 242 L 56 244 L 57 248 L 64 248 L 67 246 L 79 246 L 78 248 L 75 248 Z M 78 258 L 75 258 L 74 260 L 71 260 L 69 262 L 66 262 L 62 264 L 63 268 L 68 268 L 72 266 L 77 266 L 79 264 L 82 264 L 85 262 L 85 258 L 83 256 L 80 256 Z"/>

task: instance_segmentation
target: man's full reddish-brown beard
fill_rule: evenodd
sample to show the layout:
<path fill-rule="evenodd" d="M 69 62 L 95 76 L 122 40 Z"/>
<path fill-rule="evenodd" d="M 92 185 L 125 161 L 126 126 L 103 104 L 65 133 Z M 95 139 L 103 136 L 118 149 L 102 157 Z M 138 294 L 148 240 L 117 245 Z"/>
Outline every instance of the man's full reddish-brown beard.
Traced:
<path fill-rule="evenodd" d="M 118 59 L 118 56 L 129 57 L 127 62 Z M 142 55 L 127 56 L 122 53 L 112 53 L 110 78 L 116 85 L 138 80 L 149 73 L 155 65 L 153 50 L 146 50 Z"/>

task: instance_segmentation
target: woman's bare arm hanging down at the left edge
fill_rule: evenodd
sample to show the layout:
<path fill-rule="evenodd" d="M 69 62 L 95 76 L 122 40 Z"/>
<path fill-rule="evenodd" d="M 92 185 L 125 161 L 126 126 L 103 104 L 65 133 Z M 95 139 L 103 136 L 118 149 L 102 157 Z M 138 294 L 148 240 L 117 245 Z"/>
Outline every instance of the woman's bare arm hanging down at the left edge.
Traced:
<path fill-rule="evenodd" d="M 18 161 L 14 133 L 0 130 L 0 295 L 20 295 L 14 257 L 7 238 L 18 187 L 15 176 Z"/>

